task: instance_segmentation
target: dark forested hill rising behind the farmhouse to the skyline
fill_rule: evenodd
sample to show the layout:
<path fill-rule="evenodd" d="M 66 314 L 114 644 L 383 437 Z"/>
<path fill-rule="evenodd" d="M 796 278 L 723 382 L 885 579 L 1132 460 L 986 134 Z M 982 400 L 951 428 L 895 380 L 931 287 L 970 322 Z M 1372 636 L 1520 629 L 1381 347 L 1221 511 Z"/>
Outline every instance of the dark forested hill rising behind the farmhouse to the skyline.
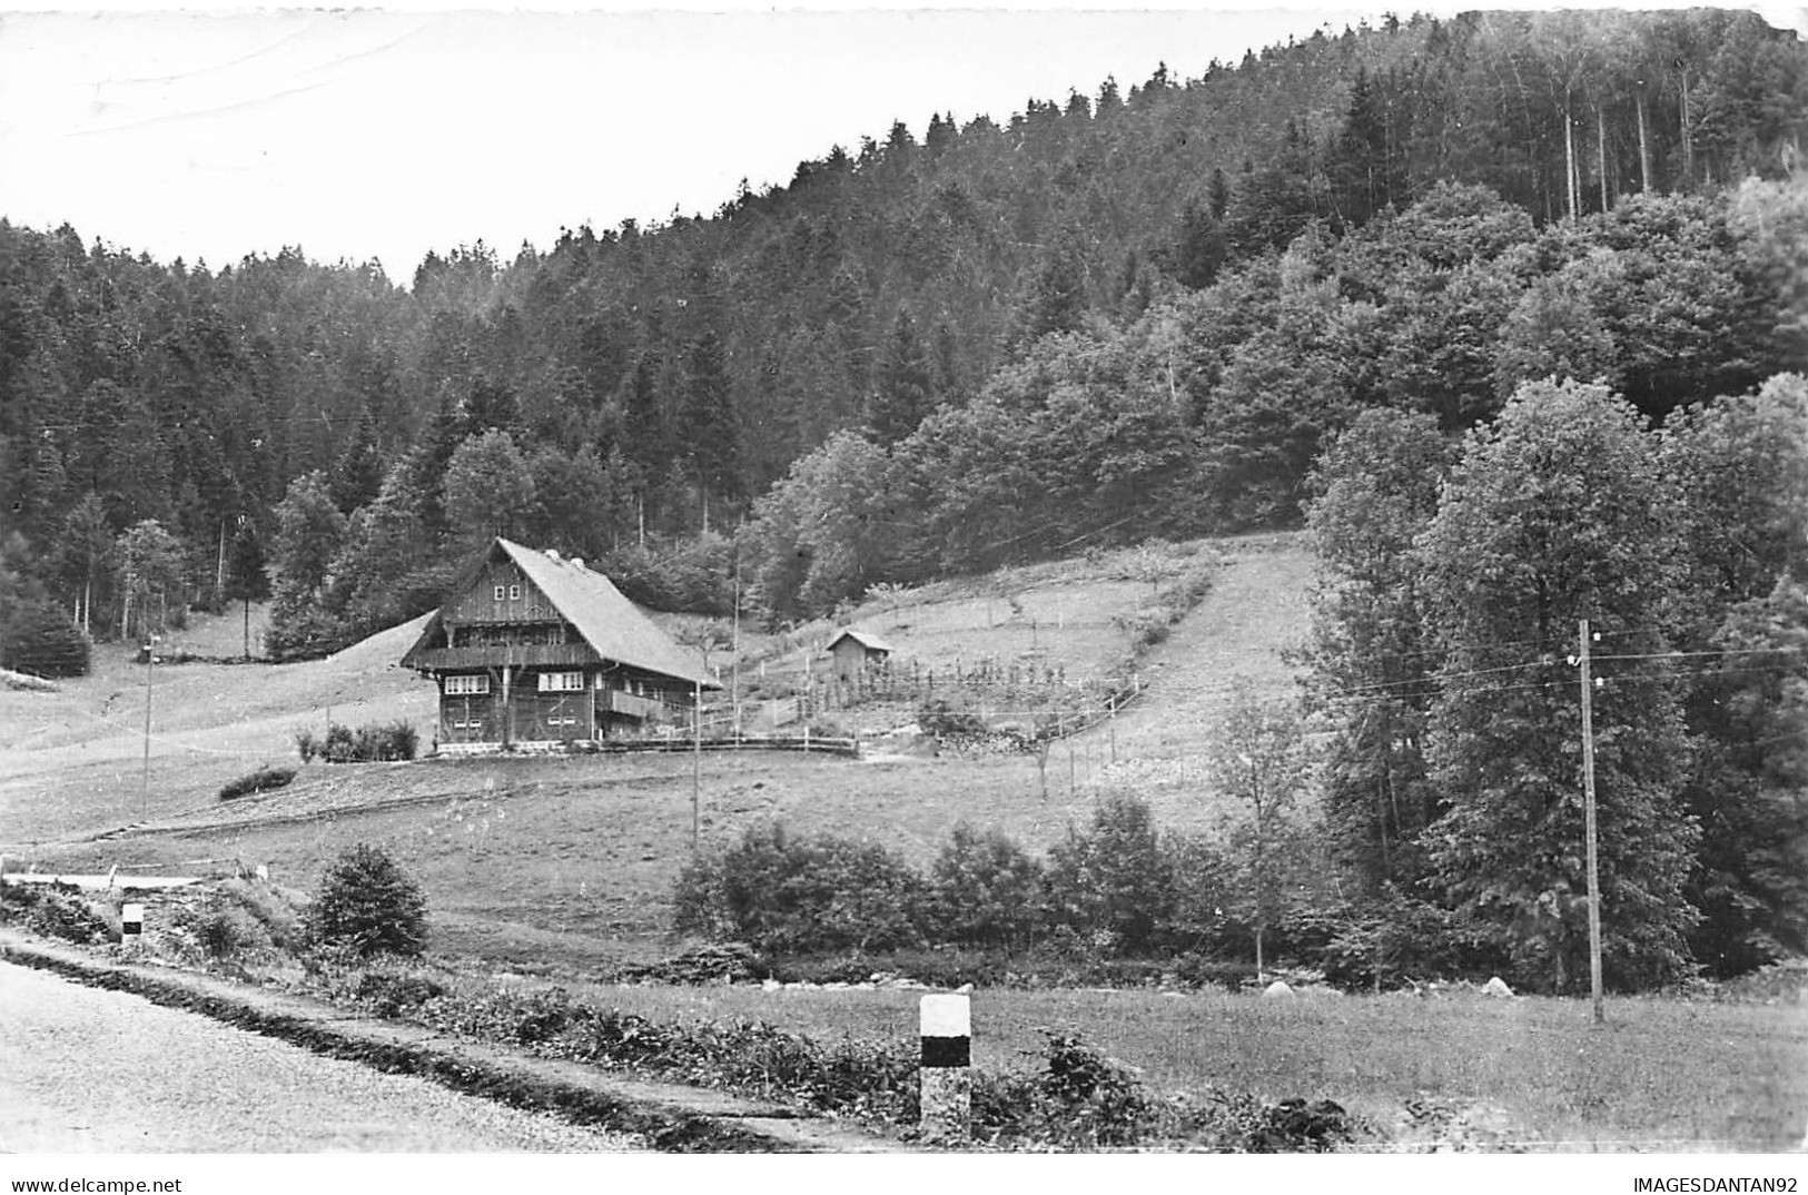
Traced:
<path fill-rule="evenodd" d="M 730 548 L 698 535 L 739 528 L 788 616 L 1291 521 L 1363 407 L 1454 430 L 1562 372 L 1662 416 L 1808 360 L 1808 54 L 1752 14 L 1390 20 L 1199 69 L 410 289 L 0 222 L 7 584 L 130 633 L 262 541 L 309 651 L 483 530 L 709 606 Z"/>

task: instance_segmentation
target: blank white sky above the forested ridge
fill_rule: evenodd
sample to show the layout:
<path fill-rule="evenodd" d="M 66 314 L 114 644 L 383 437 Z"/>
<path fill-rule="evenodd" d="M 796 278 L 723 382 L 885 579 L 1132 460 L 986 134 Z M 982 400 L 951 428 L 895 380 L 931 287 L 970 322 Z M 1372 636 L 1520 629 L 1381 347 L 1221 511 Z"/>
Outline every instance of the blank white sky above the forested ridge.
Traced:
<path fill-rule="evenodd" d="M 917 137 L 931 112 L 1003 123 L 1106 76 L 1128 92 L 1159 61 L 1193 78 L 1387 7 L 1459 7 L 1114 2 L 150 14 L 0 0 L 0 215 L 213 268 L 298 244 L 407 284 L 428 249 L 481 239 L 508 259 L 584 222 L 712 213 L 743 177 L 785 184 L 893 119 Z M 1766 14 L 1803 27 L 1799 9 Z"/>

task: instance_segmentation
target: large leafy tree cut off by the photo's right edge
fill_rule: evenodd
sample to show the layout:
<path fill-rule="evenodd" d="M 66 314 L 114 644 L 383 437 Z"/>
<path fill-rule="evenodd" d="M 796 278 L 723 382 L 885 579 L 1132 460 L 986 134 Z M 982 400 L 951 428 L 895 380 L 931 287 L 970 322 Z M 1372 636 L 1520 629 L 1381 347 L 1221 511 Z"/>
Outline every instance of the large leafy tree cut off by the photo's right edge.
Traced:
<path fill-rule="evenodd" d="M 1696 653 L 1694 949 L 1730 974 L 1808 946 L 1808 380 L 1676 412 L 1663 465 L 1685 548 L 1676 622 Z"/>

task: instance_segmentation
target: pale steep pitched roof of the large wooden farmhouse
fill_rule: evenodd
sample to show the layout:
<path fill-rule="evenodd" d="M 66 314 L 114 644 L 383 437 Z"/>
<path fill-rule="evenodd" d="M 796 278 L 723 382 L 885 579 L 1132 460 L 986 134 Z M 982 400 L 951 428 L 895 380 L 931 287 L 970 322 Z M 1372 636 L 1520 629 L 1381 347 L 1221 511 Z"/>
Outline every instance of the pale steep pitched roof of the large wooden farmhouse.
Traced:
<path fill-rule="evenodd" d="M 703 671 L 702 660 L 674 644 L 665 631 L 653 626 L 653 620 L 640 613 L 638 606 L 622 597 L 615 582 L 602 573 L 595 573 L 575 560 L 553 559 L 544 551 L 523 548 L 501 537 L 490 544 L 481 560 L 494 559 L 497 551 L 504 553 L 526 573 L 528 580 L 546 595 L 546 600 L 553 604 L 566 622 L 577 627 L 577 633 L 584 636 L 584 642 L 598 656 L 647 669 L 649 673 L 676 676 L 691 683 L 702 682 L 705 689 L 721 689 Z M 474 571 L 468 569 L 459 579 L 454 600 L 470 586 Z M 438 629 L 439 613 L 427 624 L 409 656 L 425 647 Z M 403 663 L 407 663 L 409 656 L 403 656 Z"/>

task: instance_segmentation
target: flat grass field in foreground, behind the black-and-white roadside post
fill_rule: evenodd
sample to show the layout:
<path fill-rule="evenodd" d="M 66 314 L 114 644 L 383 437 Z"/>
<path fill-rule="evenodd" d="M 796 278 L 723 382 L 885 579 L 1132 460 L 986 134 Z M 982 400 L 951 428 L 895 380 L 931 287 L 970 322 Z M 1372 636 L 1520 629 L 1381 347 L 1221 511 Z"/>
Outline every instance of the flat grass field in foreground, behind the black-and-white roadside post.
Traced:
<path fill-rule="evenodd" d="M 909 991 L 575 991 L 644 1016 L 747 1016 L 819 1040 L 917 1034 Z M 1783 1150 L 1808 1119 L 1801 1003 L 1613 1000 L 1595 1027 L 1586 1000 L 980 991 L 975 1065 L 1038 1065 L 1043 1027 L 1078 1029 L 1166 1090 L 1325 1097 L 1383 1126 L 1414 1097 L 1475 1105 L 1501 1146 Z"/>

